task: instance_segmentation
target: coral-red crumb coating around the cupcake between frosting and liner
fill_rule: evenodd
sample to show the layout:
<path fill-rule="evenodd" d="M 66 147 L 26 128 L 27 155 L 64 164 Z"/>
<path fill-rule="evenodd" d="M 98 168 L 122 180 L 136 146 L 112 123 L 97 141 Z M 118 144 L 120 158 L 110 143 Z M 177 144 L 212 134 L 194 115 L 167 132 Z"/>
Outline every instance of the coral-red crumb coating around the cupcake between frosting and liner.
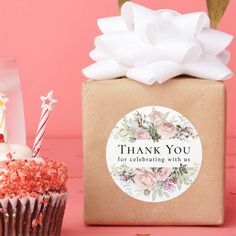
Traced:
<path fill-rule="evenodd" d="M 9 160 L 0 162 L 0 198 L 65 192 L 67 168 L 56 161 Z"/>

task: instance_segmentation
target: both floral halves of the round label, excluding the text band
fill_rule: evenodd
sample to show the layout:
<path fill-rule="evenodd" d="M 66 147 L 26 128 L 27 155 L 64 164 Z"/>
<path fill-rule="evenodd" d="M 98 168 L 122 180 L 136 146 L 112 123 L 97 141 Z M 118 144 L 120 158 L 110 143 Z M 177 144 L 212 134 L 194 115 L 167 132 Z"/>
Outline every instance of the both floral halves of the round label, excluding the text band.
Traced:
<path fill-rule="evenodd" d="M 150 107 L 149 112 L 136 110 L 124 117 L 113 129 L 111 138 L 119 143 L 137 140 L 177 139 L 188 142 L 198 135 L 192 124 L 181 114 L 163 112 Z M 137 199 L 158 202 L 172 199 L 184 192 L 195 180 L 201 163 L 188 166 L 179 163 L 176 167 L 130 167 L 123 163 L 110 169 L 115 182 L 124 192 Z"/>

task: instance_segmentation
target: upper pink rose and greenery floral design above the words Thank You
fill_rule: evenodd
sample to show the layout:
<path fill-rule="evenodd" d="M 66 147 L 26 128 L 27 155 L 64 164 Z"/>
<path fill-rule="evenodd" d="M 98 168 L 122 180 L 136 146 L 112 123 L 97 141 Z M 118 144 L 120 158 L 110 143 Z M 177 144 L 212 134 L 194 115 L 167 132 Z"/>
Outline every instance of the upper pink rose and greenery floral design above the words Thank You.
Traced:
<path fill-rule="evenodd" d="M 134 112 L 133 118 L 124 117 L 114 133 L 115 139 L 122 142 L 135 142 L 141 139 L 152 139 L 154 142 L 164 139 L 196 138 L 192 125 L 181 115 L 162 113 L 155 107 L 147 114 Z"/>

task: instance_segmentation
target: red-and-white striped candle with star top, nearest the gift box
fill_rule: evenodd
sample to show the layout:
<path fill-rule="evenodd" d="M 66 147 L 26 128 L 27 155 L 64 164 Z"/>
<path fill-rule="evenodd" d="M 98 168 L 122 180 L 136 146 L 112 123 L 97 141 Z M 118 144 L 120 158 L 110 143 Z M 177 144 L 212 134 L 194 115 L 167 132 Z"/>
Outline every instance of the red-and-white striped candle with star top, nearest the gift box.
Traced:
<path fill-rule="evenodd" d="M 42 96 L 41 100 L 43 102 L 41 106 L 42 113 L 41 113 L 40 122 L 38 125 L 38 129 L 37 129 L 37 133 L 36 133 L 36 137 L 34 141 L 33 157 L 36 157 L 39 155 L 43 138 L 44 138 L 44 134 L 46 131 L 46 126 L 48 123 L 49 114 L 52 111 L 52 108 L 55 105 L 55 103 L 57 103 L 57 100 L 54 99 L 53 91 L 50 91 L 46 97 Z"/>

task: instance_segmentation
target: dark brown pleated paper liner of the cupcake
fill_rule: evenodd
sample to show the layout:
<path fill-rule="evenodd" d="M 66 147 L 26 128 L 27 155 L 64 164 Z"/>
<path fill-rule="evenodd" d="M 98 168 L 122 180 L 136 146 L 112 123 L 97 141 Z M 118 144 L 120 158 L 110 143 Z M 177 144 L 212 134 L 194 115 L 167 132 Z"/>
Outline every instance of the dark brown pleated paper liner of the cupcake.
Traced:
<path fill-rule="evenodd" d="M 0 235 L 59 236 L 67 193 L 0 199 Z"/>

